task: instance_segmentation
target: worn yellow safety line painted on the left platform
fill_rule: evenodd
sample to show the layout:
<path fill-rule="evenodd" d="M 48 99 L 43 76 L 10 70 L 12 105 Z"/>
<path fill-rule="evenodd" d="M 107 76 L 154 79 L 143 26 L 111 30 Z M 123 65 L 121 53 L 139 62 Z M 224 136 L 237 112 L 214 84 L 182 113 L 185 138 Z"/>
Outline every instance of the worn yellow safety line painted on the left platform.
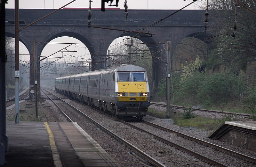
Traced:
<path fill-rule="evenodd" d="M 50 146 L 51 146 L 51 150 L 52 150 L 52 157 L 53 157 L 54 165 L 56 167 L 62 167 L 62 163 L 61 163 L 61 160 L 60 160 L 60 155 L 59 155 L 58 149 L 57 149 L 56 144 L 55 144 L 55 140 L 54 140 L 52 130 L 51 130 L 48 122 L 44 122 L 44 126 L 45 126 L 45 128 L 47 130 L 47 133 L 48 133 L 48 136 L 49 136 L 49 142 L 50 142 Z"/>

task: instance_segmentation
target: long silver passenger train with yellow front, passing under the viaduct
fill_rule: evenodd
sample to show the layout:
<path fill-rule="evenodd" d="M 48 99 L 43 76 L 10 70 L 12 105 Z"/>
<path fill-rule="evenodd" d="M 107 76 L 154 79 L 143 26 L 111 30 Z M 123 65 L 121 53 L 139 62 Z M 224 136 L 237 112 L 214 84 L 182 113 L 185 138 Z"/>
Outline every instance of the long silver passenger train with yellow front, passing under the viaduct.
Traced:
<path fill-rule="evenodd" d="M 132 64 L 58 77 L 54 84 L 55 91 L 117 118 L 142 119 L 150 106 L 147 71 Z"/>

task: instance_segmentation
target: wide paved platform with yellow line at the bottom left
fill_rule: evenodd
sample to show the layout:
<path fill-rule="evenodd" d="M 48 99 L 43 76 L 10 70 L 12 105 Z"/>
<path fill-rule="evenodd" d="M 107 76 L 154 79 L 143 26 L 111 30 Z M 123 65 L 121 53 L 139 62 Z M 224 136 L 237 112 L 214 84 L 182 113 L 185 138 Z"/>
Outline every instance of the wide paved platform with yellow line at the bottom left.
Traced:
<path fill-rule="evenodd" d="M 76 122 L 6 122 L 3 167 L 120 166 Z"/>

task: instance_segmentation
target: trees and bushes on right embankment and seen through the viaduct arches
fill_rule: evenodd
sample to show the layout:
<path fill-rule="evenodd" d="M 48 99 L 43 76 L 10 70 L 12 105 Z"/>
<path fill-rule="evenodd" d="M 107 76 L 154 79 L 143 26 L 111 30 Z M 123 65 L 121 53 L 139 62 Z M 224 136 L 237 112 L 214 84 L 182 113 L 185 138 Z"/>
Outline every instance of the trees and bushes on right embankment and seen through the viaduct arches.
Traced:
<path fill-rule="evenodd" d="M 256 11 L 254 1 L 239 2 L 247 3 L 248 8 Z M 209 24 L 205 32 L 208 38 L 202 40 L 203 35 L 199 35 L 200 39 L 197 39 L 193 36 L 195 34 L 190 34 L 191 36 L 185 37 L 175 47 L 172 64 L 172 103 L 252 113 L 252 119 L 256 120 L 256 18 L 252 11 L 236 5 L 234 1 L 209 1 Z M 205 8 L 206 4 L 202 9 Z M 234 21 L 237 25 L 234 25 Z M 6 43 L 10 43 L 10 40 L 7 39 Z M 154 70 L 152 55 L 145 44 L 135 43 L 143 42 L 130 38 L 123 43 L 126 45 L 110 47 L 111 61 L 108 62 L 107 67 L 132 63 L 145 68 L 148 71 L 149 81 L 152 81 Z M 161 51 L 156 50 L 156 53 Z M 11 76 L 14 75 L 13 66 L 7 64 L 7 68 L 9 69 L 6 70 L 6 78 L 14 78 Z M 57 69 L 54 71 L 56 72 Z M 66 72 L 63 69 L 62 73 L 66 74 Z M 6 79 L 6 81 L 9 87 L 14 85 L 14 80 Z M 158 85 L 156 95 L 154 100 L 165 101 L 166 79 Z M 157 117 L 165 117 L 165 113 L 160 115 L 154 111 L 149 113 Z M 197 119 L 192 118 L 189 112 L 186 114 L 188 120 Z"/>

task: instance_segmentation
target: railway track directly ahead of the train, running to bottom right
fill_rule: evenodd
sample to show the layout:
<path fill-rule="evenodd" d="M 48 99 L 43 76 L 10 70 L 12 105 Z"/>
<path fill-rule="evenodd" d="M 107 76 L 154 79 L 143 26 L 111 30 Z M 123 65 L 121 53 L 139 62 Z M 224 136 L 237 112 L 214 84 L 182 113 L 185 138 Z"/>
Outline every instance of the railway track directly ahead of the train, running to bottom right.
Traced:
<path fill-rule="evenodd" d="M 120 122 L 122 122 L 122 123 L 124 123 L 124 124 L 126 124 L 126 125 L 128 125 L 130 127 L 132 127 L 132 128 L 138 129 L 141 132 L 144 132 L 144 133 L 147 133 L 149 135 L 154 136 L 157 140 L 165 143 L 166 147 L 168 147 L 168 146 L 175 147 L 178 150 L 184 151 L 184 152 L 186 152 L 189 155 L 196 156 L 200 160 L 203 160 L 205 162 L 211 163 L 213 166 L 228 167 L 228 163 L 225 164 L 223 162 L 219 162 L 218 160 L 214 160 L 214 158 L 212 158 L 212 157 L 205 156 L 204 153 L 198 153 L 198 152 L 194 151 L 195 147 L 201 147 L 201 149 L 203 149 L 203 150 L 214 150 L 214 151 L 216 151 L 215 154 L 223 154 L 223 158 L 224 159 L 230 159 L 230 156 L 232 156 L 234 158 L 233 159 L 234 161 L 238 161 L 238 162 L 244 161 L 244 163 L 250 162 L 252 166 L 256 165 L 256 159 L 253 158 L 253 157 L 246 156 L 246 155 L 238 153 L 236 151 L 233 151 L 233 150 L 230 150 L 230 149 L 226 149 L 224 147 L 212 144 L 210 142 L 203 141 L 201 139 L 197 139 L 197 138 L 189 136 L 187 134 L 183 134 L 183 133 L 174 131 L 172 129 L 168 129 L 168 128 L 159 126 L 157 124 L 154 124 L 154 123 L 151 123 L 151 122 L 148 122 L 148 121 L 145 121 L 145 120 L 137 120 L 137 122 L 135 122 L 135 123 L 134 122 L 133 123 L 129 123 L 127 121 L 119 120 L 119 119 L 117 119 L 115 117 L 112 117 L 112 118 L 116 119 L 116 120 L 118 120 L 118 121 L 120 121 Z M 172 133 L 172 134 L 177 134 L 177 136 L 180 136 L 181 138 L 183 138 L 183 139 L 179 139 L 179 140 L 184 140 L 185 142 L 183 141 L 182 144 L 179 144 L 178 142 L 172 142 L 172 141 L 170 141 L 168 139 L 165 139 L 164 137 L 161 137 L 161 136 L 159 136 L 157 134 L 151 133 L 150 132 L 151 128 L 148 128 L 148 127 L 141 128 L 141 127 L 143 127 L 143 126 L 141 126 L 141 124 L 147 124 L 147 125 L 149 125 L 151 127 L 155 127 L 155 128 L 157 128 L 159 130 L 163 130 L 164 132 L 169 132 L 169 133 Z M 149 129 L 149 130 L 145 130 L 145 129 Z M 177 141 L 177 139 L 176 139 L 176 141 Z M 188 148 L 186 146 L 187 144 L 184 145 L 184 143 L 192 143 L 192 147 L 190 146 L 190 148 Z M 197 143 L 198 146 L 196 146 L 195 143 Z M 214 154 L 214 152 L 211 151 L 211 154 Z"/>

